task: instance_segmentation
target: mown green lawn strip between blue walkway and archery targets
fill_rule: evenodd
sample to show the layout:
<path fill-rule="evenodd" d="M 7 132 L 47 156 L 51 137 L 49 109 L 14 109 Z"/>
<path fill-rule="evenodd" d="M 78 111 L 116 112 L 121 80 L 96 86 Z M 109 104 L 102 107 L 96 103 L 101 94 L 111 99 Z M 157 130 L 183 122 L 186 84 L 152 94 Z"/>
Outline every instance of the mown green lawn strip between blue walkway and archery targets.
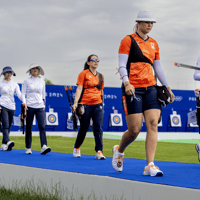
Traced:
<path fill-rule="evenodd" d="M 0 137 L 2 139 L 2 137 Z M 15 141 L 15 149 L 25 149 L 24 137 L 10 137 Z M 61 136 L 47 136 L 48 146 L 53 152 L 70 153 L 73 152 L 75 138 Z M 119 144 L 120 140 L 103 139 L 103 153 L 106 157 L 112 157 L 112 147 Z M 85 138 L 81 146 L 81 154 L 95 155 L 94 138 Z M 32 137 L 32 150 L 40 151 L 39 137 Z M 125 158 L 146 159 L 145 142 L 135 141 L 130 144 L 125 151 Z M 199 163 L 195 145 L 191 143 L 158 142 L 155 160 Z"/>

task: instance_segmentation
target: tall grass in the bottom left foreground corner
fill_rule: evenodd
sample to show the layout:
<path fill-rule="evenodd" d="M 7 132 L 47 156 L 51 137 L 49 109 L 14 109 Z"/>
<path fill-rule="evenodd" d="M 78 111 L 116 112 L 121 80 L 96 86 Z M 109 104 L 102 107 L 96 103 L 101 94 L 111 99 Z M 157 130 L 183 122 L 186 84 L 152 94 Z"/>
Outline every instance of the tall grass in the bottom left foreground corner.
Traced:
<path fill-rule="evenodd" d="M 61 183 L 51 183 L 48 187 L 42 181 L 36 185 L 34 180 L 27 180 L 25 183 L 12 180 L 11 185 L 5 187 L 4 184 L 0 179 L 0 200 L 125 200 L 123 195 L 120 198 L 116 195 L 97 198 L 92 189 L 90 195 L 85 196 L 74 187 L 69 191 Z"/>

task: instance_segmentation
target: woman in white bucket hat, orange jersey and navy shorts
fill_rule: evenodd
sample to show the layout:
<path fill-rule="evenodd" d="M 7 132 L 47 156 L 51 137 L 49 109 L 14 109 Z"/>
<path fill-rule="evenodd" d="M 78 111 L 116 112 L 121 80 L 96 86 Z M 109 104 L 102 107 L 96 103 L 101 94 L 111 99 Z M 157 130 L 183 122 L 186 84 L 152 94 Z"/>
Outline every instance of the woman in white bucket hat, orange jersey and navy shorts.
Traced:
<path fill-rule="evenodd" d="M 124 151 L 137 138 L 144 116 L 147 128 L 147 166 L 143 175 L 162 176 L 163 172 L 154 165 L 161 107 L 154 87 L 156 81 L 152 66 L 162 85 L 168 88 L 171 103 L 174 101 L 174 94 L 160 64 L 158 44 L 148 36 L 156 22 L 153 14 L 150 11 L 140 11 L 136 22 L 136 32 L 126 36 L 119 47 L 119 73 L 123 80 L 122 104 L 128 130 L 123 134 L 120 145 L 113 147 L 112 166 L 118 172 L 123 170 Z"/>

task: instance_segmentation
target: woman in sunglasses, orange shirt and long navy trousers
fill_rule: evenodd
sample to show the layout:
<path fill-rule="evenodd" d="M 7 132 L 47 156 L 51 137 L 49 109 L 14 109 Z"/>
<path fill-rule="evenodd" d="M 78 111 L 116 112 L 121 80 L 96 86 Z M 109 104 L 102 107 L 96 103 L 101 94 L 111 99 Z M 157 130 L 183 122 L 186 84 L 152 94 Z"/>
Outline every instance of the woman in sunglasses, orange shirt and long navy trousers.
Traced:
<path fill-rule="evenodd" d="M 75 94 L 75 101 L 72 107 L 76 110 L 78 103 L 82 103 L 85 113 L 81 115 L 80 129 L 74 144 L 74 157 L 81 157 L 80 146 L 82 145 L 86 133 L 90 125 L 90 119 L 93 120 L 93 133 L 95 138 L 95 158 L 99 160 L 106 159 L 102 153 L 103 150 L 103 89 L 104 77 L 97 71 L 99 66 L 98 56 L 92 54 L 88 57 L 84 70 L 79 74 L 77 80 L 77 89 Z"/>

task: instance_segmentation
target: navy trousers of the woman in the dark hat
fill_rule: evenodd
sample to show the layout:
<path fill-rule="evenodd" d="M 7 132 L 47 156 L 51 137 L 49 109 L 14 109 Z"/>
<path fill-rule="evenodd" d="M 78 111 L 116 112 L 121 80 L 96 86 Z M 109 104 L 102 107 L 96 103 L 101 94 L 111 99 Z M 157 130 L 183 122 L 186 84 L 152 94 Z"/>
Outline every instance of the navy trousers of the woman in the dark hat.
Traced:
<path fill-rule="evenodd" d="M 1 117 L 2 117 L 2 127 L 3 127 L 3 140 L 2 144 L 7 144 L 7 142 L 10 141 L 9 133 L 10 133 L 10 127 L 13 122 L 13 116 L 15 114 L 15 110 L 10 110 L 8 108 L 5 108 L 3 106 L 1 110 Z"/>

